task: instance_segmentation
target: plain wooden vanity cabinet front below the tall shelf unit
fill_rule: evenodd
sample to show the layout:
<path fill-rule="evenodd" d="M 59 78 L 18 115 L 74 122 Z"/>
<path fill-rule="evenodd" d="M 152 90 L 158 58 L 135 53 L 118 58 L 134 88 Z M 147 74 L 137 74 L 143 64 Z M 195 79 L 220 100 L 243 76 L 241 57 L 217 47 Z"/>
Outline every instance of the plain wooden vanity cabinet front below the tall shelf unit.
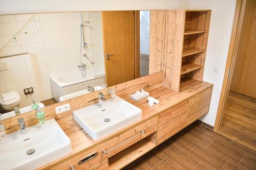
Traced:
<path fill-rule="evenodd" d="M 212 87 L 158 116 L 158 144 L 195 122 L 209 111 Z"/>

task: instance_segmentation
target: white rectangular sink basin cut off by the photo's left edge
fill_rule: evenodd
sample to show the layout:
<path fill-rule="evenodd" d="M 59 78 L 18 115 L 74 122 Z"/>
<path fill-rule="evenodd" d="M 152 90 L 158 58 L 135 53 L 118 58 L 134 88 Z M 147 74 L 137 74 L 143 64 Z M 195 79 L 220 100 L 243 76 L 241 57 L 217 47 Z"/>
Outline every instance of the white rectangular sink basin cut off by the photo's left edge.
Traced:
<path fill-rule="evenodd" d="M 1 169 L 34 169 L 72 151 L 70 139 L 55 119 L 27 131 L 23 135 L 20 131 L 10 133 L 0 141 Z M 30 149 L 35 152 L 28 155 Z"/>

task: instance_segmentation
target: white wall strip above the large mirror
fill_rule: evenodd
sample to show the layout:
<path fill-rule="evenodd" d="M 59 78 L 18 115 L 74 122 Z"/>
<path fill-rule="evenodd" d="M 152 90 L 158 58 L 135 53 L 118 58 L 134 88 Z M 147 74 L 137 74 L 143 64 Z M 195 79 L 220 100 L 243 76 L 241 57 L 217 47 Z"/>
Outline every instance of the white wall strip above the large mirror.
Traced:
<path fill-rule="evenodd" d="M 0 0 L 1 14 L 186 9 L 190 0 Z"/>

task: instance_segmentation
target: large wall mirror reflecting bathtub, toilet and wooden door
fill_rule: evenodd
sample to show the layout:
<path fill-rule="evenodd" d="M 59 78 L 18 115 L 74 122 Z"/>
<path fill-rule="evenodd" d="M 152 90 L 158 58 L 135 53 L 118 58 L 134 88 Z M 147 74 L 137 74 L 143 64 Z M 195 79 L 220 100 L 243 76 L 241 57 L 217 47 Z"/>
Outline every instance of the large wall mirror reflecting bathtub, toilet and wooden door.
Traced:
<path fill-rule="evenodd" d="M 148 75 L 150 11 L 0 16 L 2 119 Z"/>

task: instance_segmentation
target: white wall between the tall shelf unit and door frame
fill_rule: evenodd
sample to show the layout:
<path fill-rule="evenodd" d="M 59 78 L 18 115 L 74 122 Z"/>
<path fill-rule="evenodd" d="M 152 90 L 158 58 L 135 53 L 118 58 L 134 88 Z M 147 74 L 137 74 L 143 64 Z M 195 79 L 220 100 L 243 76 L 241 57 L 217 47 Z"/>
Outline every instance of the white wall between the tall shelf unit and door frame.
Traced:
<path fill-rule="evenodd" d="M 214 84 L 214 90 L 209 113 L 201 118 L 211 126 L 219 105 L 235 7 L 236 0 L 191 0 L 191 9 L 212 10 L 203 81 Z M 214 71 L 215 67 L 219 72 Z"/>

